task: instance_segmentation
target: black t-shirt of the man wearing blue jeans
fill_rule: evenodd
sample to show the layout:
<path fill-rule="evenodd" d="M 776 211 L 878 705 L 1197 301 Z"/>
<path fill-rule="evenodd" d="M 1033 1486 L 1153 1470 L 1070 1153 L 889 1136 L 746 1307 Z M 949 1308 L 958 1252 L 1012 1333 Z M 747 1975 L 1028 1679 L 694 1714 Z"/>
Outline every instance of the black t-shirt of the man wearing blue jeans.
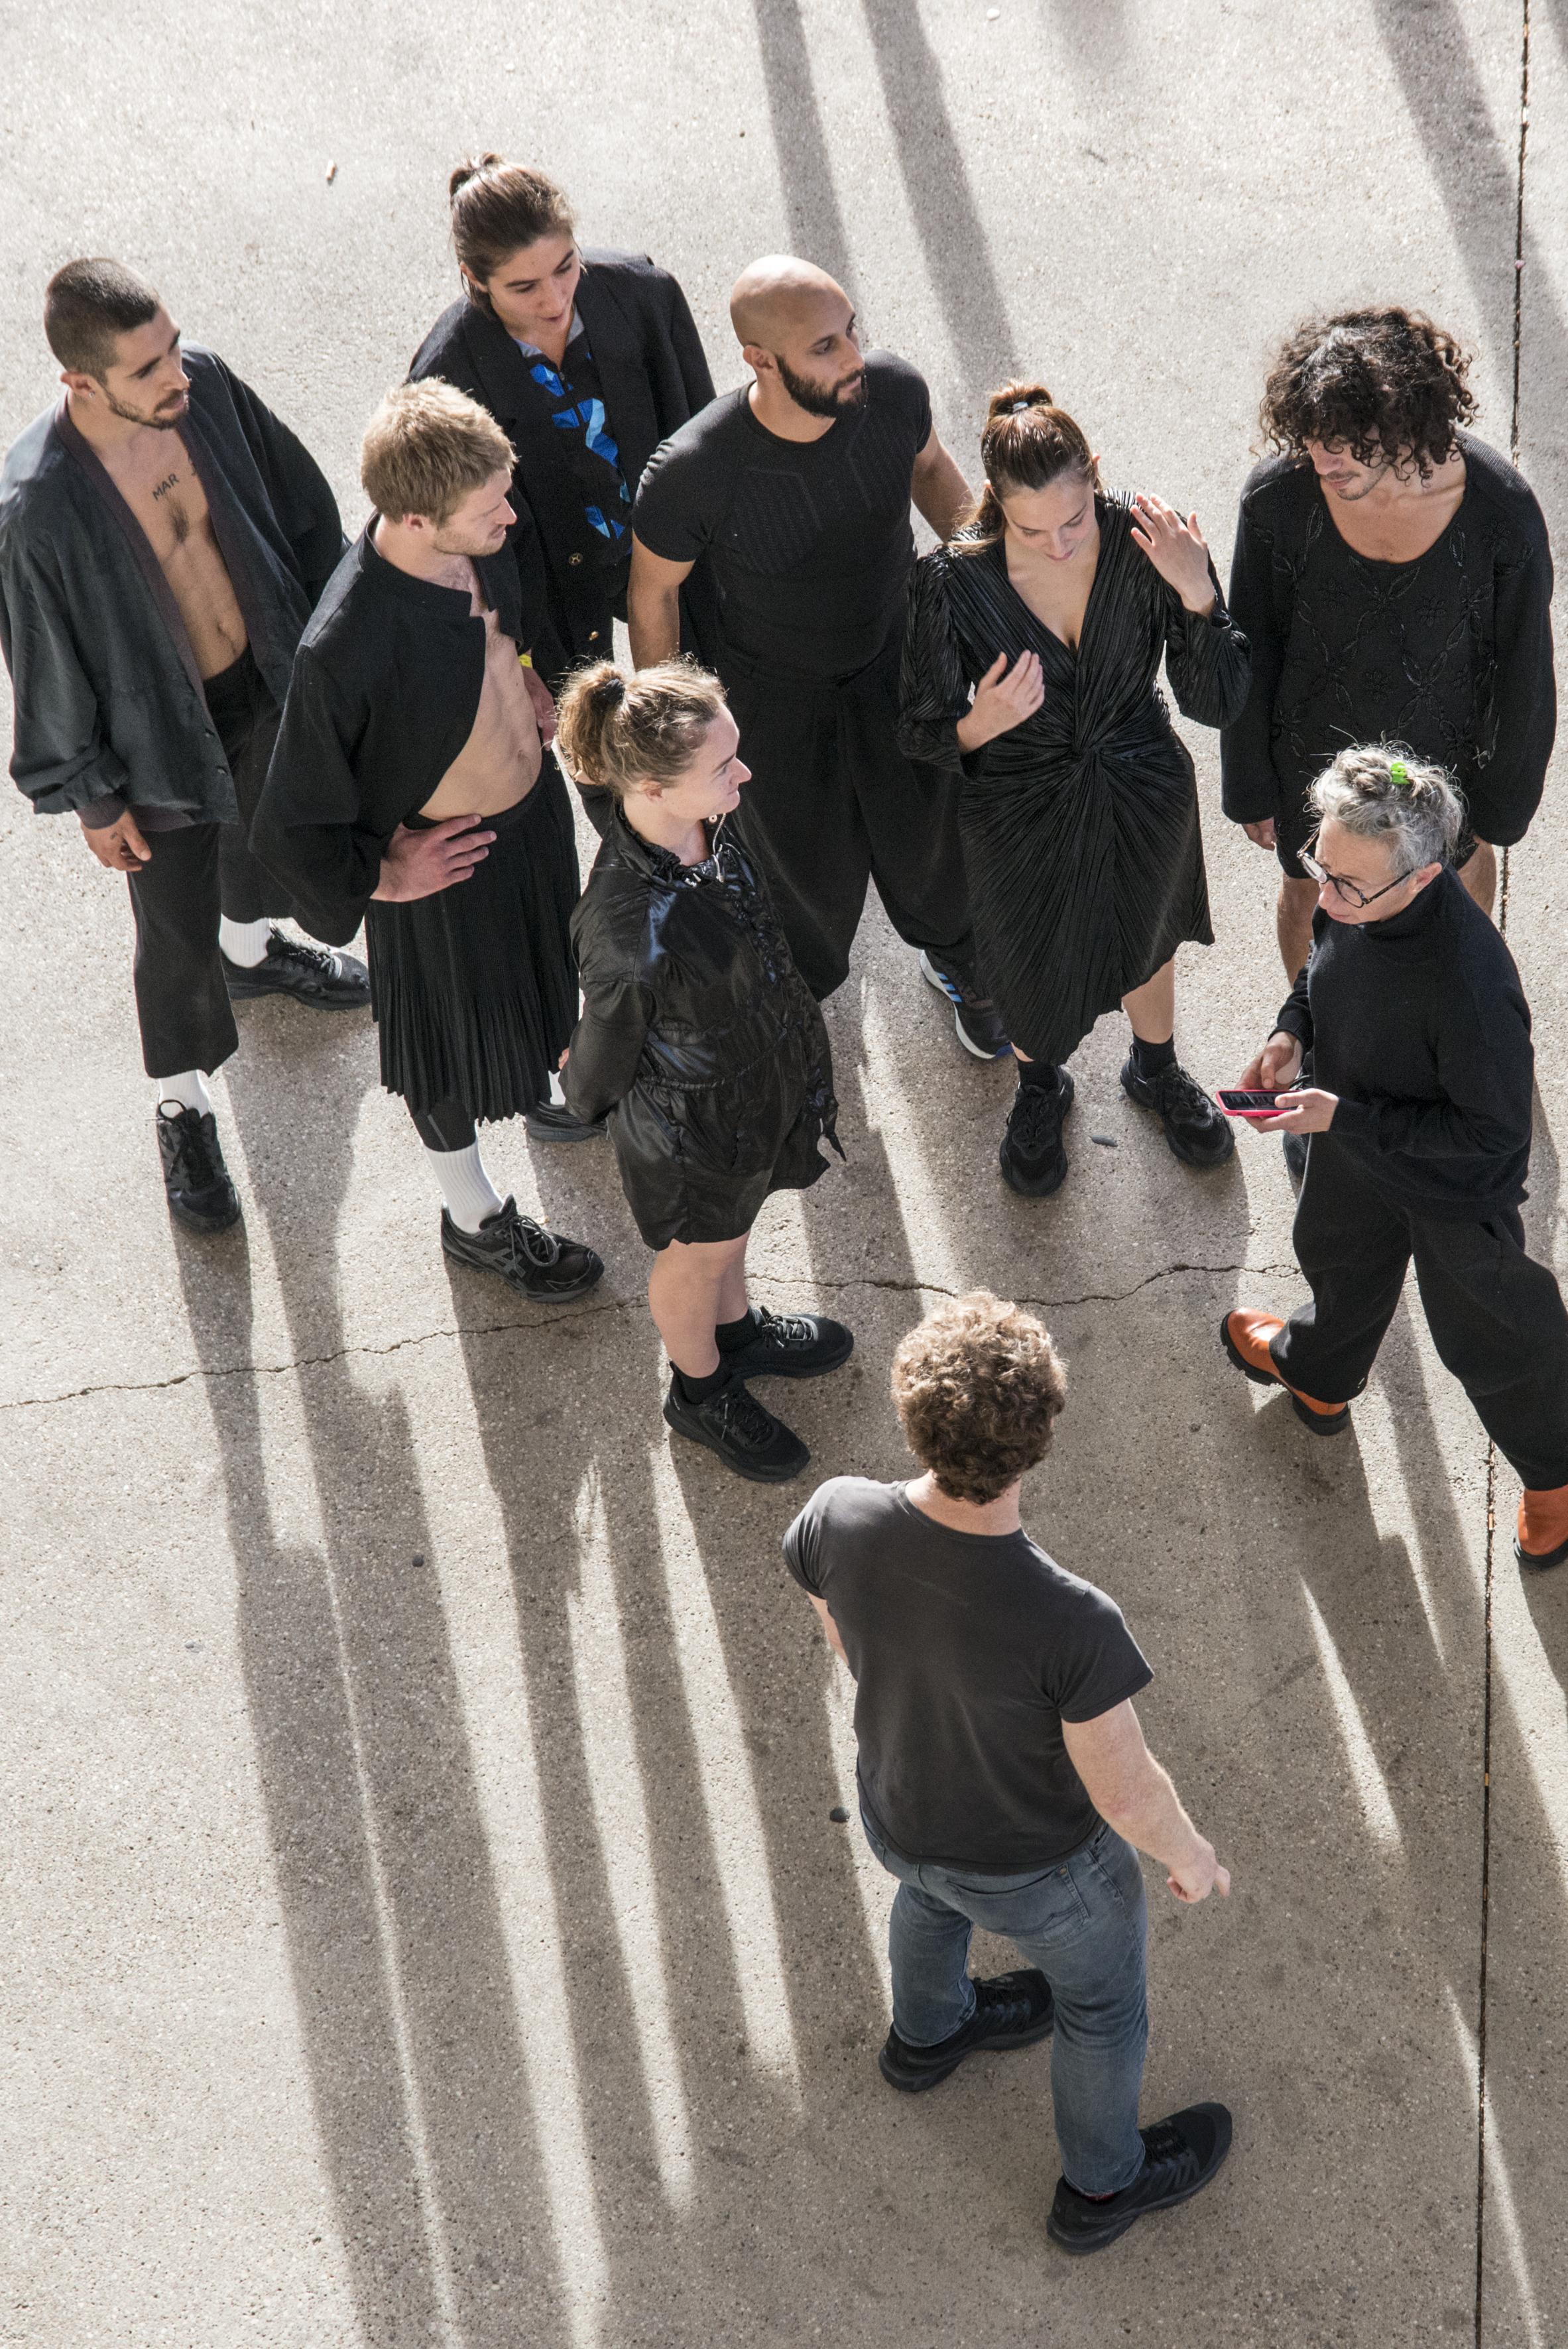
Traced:
<path fill-rule="evenodd" d="M 784 1560 L 838 1623 L 859 1792 L 894 1851 L 1019 1875 L 1094 1835 L 1061 1724 L 1153 1680 L 1115 1600 L 1028 1534 L 955 1534 L 859 1475 L 812 1494 Z"/>

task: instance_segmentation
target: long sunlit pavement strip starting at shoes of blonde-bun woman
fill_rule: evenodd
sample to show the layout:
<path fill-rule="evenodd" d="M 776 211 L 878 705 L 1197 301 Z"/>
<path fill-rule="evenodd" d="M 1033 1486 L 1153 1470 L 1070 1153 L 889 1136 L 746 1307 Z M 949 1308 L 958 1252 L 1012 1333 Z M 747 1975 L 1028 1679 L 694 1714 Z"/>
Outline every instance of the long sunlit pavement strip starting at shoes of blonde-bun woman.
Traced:
<path fill-rule="evenodd" d="M 768 1877 L 763 1813 L 751 1781 L 739 1705 L 681 1482 L 664 1445 L 655 1445 L 648 1461 L 664 1586 L 676 1628 L 676 1663 L 697 1748 L 718 1889 L 730 1924 L 746 2041 L 756 2062 L 786 2081 L 798 2105 L 800 2062 L 789 2020 L 789 1985 Z"/>

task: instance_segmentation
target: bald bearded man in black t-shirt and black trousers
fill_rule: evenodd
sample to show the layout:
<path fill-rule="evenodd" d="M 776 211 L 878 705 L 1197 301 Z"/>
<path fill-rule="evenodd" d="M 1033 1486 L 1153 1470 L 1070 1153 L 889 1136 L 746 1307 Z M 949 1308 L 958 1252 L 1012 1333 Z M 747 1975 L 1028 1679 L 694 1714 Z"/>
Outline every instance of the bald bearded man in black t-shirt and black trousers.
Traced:
<path fill-rule="evenodd" d="M 920 373 L 861 355 L 850 296 L 789 254 L 730 296 L 753 383 L 714 399 L 648 463 L 631 517 L 631 658 L 681 648 L 681 583 L 707 554 L 718 672 L 751 782 L 732 822 L 765 867 L 817 998 L 850 972 L 876 881 L 899 937 L 953 1003 L 976 1059 L 1009 1050 L 974 968 L 955 792 L 899 752 L 911 498 L 948 538 L 969 486 Z"/>

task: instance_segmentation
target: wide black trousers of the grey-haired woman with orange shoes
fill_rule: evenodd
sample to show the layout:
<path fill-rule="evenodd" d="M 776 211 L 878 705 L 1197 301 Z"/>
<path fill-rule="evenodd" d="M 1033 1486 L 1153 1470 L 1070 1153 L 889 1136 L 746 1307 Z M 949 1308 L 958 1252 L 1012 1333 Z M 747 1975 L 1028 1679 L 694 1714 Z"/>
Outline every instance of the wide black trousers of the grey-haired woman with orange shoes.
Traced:
<path fill-rule="evenodd" d="M 1317 1402 L 1361 1393 L 1413 1257 L 1432 1344 L 1498 1452 L 1528 1492 L 1568 1485 L 1568 1313 L 1514 1207 L 1465 1224 L 1413 1214 L 1333 1135 L 1312 1135 L 1296 1257 L 1312 1304 L 1272 1348 L 1291 1386 Z"/>

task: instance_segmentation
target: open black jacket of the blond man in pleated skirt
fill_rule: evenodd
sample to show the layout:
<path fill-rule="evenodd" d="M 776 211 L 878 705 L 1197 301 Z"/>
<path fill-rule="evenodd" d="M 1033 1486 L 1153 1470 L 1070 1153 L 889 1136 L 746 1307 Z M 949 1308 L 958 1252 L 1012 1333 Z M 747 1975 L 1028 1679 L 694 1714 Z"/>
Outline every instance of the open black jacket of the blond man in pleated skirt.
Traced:
<path fill-rule="evenodd" d="M 495 625 L 519 641 L 516 566 L 502 547 L 474 568 Z M 472 599 L 399 571 L 366 524 L 300 637 L 251 824 L 254 853 L 298 900 L 312 937 L 347 947 L 387 841 L 467 742 L 481 691 Z"/>

